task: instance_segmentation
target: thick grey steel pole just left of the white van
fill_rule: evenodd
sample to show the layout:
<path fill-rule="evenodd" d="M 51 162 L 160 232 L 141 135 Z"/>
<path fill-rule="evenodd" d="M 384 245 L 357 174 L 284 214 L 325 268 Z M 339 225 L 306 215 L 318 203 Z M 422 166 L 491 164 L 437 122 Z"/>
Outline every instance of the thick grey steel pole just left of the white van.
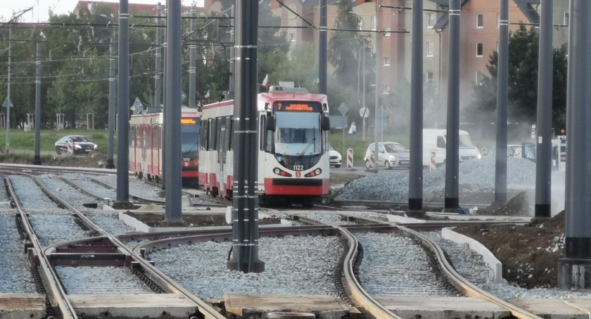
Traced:
<path fill-rule="evenodd" d="M 423 210 L 423 0 L 412 1 L 409 211 Z"/>

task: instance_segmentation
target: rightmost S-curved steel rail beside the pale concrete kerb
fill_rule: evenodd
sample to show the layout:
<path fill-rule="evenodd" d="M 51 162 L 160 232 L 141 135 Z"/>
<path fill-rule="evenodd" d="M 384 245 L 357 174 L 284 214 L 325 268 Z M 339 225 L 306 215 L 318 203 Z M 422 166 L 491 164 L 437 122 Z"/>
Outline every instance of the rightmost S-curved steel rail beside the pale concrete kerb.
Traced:
<path fill-rule="evenodd" d="M 490 301 L 493 304 L 497 304 L 497 306 L 501 306 L 502 308 L 511 311 L 511 314 L 519 319 L 542 319 L 542 317 L 538 315 L 530 313 L 529 311 L 526 311 L 523 308 L 519 308 L 514 304 L 510 304 L 509 302 L 504 301 L 503 299 L 500 299 L 497 296 L 490 294 L 489 292 L 485 292 L 483 289 L 476 286 L 476 284 L 473 284 L 469 280 L 466 280 L 466 278 L 462 277 L 462 275 L 459 275 L 459 273 L 457 273 L 457 271 L 447 261 L 447 258 L 445 258 L 443 249 L 441 249 L 441 247 L 438 244 L 431 241 L 431 239 L 429 239 L 428 237 L 424 236 L 420 232 L 411 230 L 408 227 L 404 227 L 401 225 L 396 225 L 396 227 L 398 227 L 398 229 L 400 229 L 402 232 L 416 237 L 425 246 L 427 246 L 428 249 L 431 249 L 431 251 L 433 252 L 433 254 L 436 255 L 439 261 L 438 265 L 440 267 L 441 273 L 445 277 L 447 277 L 447 280 L 449 280 L 450 283 L 452 283 L 465 296 Z"/>

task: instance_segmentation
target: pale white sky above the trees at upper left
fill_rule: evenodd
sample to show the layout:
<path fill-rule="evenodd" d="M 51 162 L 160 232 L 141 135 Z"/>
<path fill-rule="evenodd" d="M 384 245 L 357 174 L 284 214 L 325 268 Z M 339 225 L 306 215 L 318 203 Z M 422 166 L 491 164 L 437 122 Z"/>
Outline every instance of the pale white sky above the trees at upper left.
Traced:
<path fill-rule="evenodd" d="M 100 0 L 96 0 L 100 1 Z M 105 2 L 119 2 L 110 0 Z M 166 0 L 129 0 L 129 4 L 166 4 Z M 203 1 L 194 1 L 197 6 L 203 6 Z M 24 11 L 31 8 L 23 15 L 20 22 L 41 23 L 49 20 L 49 10 L 58 15 L 68 14 L 74 11 L 78 0 L 0 0 L 0 20 L 8 21 L 12 18 L 14 12 Z M 182 0 L 183 6 L 190 6 L 192 0 Z"/>

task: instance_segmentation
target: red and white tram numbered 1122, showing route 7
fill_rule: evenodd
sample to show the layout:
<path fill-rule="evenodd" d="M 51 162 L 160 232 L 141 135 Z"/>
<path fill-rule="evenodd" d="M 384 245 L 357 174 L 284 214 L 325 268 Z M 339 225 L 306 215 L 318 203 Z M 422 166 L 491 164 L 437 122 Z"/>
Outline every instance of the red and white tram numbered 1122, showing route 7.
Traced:
<path fill-rule="evenodd" d="M 232 195 L 234 101 L 203 106 L 199 184 Z M 258 194 L 262 203 L 329 201 L 329 106 L 324 94 L 270 87 L 258 94 Z"/>

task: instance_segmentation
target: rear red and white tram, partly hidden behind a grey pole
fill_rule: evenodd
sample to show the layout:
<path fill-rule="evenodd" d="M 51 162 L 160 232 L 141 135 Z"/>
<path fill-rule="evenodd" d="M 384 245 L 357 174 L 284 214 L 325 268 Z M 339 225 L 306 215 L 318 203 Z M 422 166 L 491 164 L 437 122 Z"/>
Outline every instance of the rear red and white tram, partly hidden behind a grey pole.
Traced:
<path fill-rule="evenodd" d="M 139 177 L 162 182 L 163 164 L 162 111 L 132 115 L 129 120 L 129 169 Z M 181 108 L 182 178 L 184 184 L 197 184 L 198 143 L 201 113 L 195 108 Z"/>

